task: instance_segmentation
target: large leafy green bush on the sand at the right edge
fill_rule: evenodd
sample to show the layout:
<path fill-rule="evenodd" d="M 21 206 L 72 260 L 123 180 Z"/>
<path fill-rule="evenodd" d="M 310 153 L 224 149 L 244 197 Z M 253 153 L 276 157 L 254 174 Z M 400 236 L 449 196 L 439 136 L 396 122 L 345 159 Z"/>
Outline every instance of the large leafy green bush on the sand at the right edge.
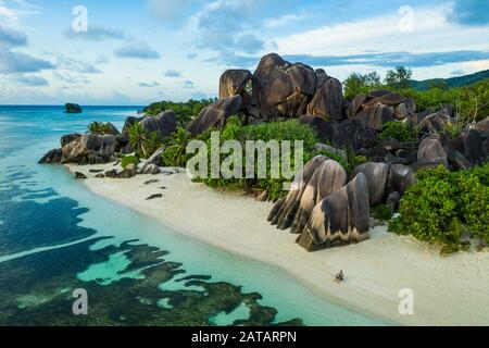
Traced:
<path fill-rule="evenodd" d="M 440 165 L 418 172 L 417 178 L 390 223 L 392 232 L 441 244 L 443 251 L 464 247 L 464 228 L 489 241 L 489 163 L 461 172 Z"/>

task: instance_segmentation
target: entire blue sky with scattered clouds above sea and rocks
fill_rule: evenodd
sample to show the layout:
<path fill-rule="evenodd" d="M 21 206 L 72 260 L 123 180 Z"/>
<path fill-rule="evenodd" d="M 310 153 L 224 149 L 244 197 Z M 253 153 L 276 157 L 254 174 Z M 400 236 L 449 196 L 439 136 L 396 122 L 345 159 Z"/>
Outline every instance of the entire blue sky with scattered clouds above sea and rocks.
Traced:
<path fill-rule="evenodd" d="M 489 0 L 0 0 L 0 104 L 215 97 L 276 52 L 344 80 L 489 69 Z"/>

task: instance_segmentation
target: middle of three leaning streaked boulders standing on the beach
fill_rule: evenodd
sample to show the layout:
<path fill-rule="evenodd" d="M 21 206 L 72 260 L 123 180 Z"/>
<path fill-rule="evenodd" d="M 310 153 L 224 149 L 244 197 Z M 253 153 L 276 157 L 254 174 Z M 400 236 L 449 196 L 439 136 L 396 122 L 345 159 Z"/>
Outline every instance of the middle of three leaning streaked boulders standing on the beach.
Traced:
<path fill-rule="evenodd" d="M 348 174 L 338 162 L 327 160 L 321 164 L 309 181 L 301 197 L 299 210 L 291 226 L 291 233 L 302 233 L 314 207 L 324 198 L 343 187 L 347 184 L 347 179 Z"/>

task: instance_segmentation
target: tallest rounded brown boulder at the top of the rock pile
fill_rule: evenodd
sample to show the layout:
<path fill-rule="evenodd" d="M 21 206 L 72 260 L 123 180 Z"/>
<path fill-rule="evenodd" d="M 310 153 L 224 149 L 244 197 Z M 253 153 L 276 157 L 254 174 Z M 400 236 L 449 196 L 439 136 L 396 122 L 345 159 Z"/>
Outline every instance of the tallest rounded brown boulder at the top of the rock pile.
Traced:
<path fill-rule="evenodd" d="M 305 113 L 317 86 L 316 72 L 304 64 L 291 64 L 276 53 L 263 57 L 254 71 L 253 104 L 267 121 L 298 117 Z"/>

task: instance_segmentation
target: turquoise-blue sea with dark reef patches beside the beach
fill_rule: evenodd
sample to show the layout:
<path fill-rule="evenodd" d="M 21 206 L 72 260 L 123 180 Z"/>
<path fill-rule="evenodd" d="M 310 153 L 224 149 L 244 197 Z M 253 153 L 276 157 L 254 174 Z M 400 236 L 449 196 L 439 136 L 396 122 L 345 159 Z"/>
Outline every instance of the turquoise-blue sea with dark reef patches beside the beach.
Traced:
<path fill-rule="evenodd" d="M 0 325 L 381 325 L 287 273 L 185 237 L 37 161 L 138 107 L 0 107 Z M 75 289 L 88 315 L 75 315 Z"/>

